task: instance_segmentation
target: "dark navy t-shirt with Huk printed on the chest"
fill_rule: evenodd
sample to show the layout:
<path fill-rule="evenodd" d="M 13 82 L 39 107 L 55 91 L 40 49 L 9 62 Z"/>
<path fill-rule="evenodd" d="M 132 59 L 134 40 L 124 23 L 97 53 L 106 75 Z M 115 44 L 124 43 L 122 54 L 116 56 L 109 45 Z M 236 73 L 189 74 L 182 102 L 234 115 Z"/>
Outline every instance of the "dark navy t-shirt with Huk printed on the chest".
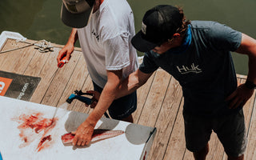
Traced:
<path fill-rule="evenodd" d="M 192 21 L 183 46 L 164 54 L 145 53 L 139 67 L 149 74 L 161 67 L 178 80 L 184 96 L 183 112 L 216 117 L 237 112 L 225 98 L 237 87 L 230 51 L 241 44 L 242 33 L 218 22 Z"/>

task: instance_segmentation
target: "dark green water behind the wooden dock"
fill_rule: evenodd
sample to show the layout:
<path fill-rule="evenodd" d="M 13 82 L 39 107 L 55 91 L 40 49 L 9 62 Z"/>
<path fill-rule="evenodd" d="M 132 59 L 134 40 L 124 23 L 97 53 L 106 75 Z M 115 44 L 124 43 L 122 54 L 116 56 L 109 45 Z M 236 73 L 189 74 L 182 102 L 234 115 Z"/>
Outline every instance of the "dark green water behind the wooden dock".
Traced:
<path fill-rule="evenodd" d="M 256 0 L 127 0 L 134 10 L 135 29 L 140 30 L 146 10 L 160 4 L 182 6 L 190 20 L 225 23 L 256 38 Z M 24 37 L 65 45 L 70 27 L 60 19 L 61 0 L 0 0 L 0 33 L 14 31 Z M 78 44 L 77 44 L 78 46 Z M 142 55 L 142 53 L 138 53 Z M 233 54 L 238 74 L 247 74 L 245 55 Z"/>

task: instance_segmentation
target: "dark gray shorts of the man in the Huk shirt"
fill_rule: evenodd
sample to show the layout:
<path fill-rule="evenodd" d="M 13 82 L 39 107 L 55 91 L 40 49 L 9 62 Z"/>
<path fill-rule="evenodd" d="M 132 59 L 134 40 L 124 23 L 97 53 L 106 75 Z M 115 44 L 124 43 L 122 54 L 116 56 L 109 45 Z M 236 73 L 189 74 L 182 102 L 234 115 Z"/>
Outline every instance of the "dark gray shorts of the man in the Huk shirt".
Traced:
<path fill-rule="evenodd" d="M 246 127 L 243 111 L 221 118 L 200 118 L 184 114 L 186 148 L 202 150 L 210 140 L 212 130 L 218 135 L 227 155 L 238 157 L 246 150 Z"/>

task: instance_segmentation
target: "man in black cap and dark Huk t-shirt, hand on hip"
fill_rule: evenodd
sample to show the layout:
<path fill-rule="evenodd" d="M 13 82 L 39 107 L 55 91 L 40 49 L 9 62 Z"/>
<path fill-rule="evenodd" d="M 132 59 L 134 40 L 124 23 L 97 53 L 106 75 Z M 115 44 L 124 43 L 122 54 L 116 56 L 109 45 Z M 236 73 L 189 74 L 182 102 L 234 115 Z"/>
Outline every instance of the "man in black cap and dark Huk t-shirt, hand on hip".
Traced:
<path fill-rule="evenodd" d="M 145 56 L 116 98 L 138 89 L 161 67 L 182 86 L 186 147 L 194 158 L 206 159 L 214 130 L 228 159 L 243 159 L 242 106 L 256 86 L 256 40 L 218 22 L 186 21 L 181 9 L 162 5 L 146 12 L 132 44 Z M 237 84 L 230 51 L 249 57 L 245 84 Z"/>

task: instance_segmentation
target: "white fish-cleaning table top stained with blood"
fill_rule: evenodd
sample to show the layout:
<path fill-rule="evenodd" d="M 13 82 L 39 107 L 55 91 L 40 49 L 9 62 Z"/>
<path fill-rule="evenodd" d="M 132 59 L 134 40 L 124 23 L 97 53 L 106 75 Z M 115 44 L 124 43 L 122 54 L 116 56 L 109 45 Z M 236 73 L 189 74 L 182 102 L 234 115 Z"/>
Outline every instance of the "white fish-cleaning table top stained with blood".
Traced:
<path fill-rule="evenodd" d="M 90 146 L 75 148 L 64 146 L 61 135 L 75 130 L 87 117 L 74 111 L 58 109 L 56 126 L 49 134 L 53 144 L 41 151 L 37 151 L 40 138 L 29 146 L 20 148 L 23 143 L 19 137 L 18 122 L 12 118 L 21 114 L 43 113 L 44 118 L 52 118 L 55 107 L 45 106 L 32 102 L 25 102 L 14 98 L 0 96 L 0 151 L 3 160 L 10 159 L 140 159 L 146 140 L 149 138 L 152 127 L 139 126 L 128 122 L 102 118 L 99 128 L 109 130 L 124 130 L 126 133 L 114 138 L 108 138 L 90 144 Z M 47 135 L 47 134 L 46 134 Z M 146 153 L 149 154 L 149 153 Z"/>

